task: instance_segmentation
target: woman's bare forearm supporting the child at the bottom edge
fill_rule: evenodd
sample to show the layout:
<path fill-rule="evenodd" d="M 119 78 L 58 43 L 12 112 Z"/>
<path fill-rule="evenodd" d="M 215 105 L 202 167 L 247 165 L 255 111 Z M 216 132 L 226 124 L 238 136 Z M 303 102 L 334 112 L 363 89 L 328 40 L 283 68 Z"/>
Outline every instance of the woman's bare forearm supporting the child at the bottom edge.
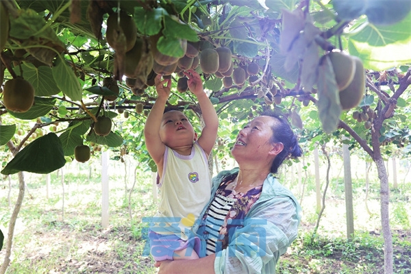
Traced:
<path fill-rule="evenodd" d="M 214 274 L 215 257 L 215 254 L 212 254 L 197 260 L 165 260 L 156 262 L 155 265 L 160 264 L 158 274 Z"/>

